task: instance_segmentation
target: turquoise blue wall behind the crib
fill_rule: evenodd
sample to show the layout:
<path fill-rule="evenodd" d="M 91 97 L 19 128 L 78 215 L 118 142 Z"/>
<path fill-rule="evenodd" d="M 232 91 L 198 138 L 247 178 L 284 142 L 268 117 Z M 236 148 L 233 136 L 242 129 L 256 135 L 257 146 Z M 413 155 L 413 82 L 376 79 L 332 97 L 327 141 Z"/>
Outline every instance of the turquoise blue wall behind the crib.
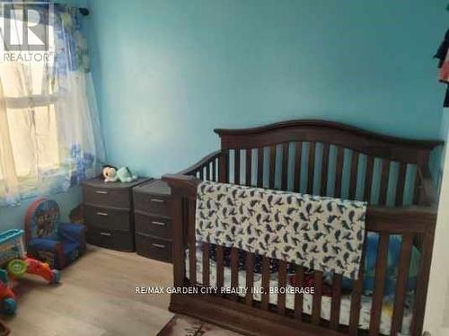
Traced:
<path fill-rule="evenodd" d="M 158 176 L 215 150 L 212 128 L 296 118 L 439 137 L 445 4 L 90 1 L 108 159 Z"/>

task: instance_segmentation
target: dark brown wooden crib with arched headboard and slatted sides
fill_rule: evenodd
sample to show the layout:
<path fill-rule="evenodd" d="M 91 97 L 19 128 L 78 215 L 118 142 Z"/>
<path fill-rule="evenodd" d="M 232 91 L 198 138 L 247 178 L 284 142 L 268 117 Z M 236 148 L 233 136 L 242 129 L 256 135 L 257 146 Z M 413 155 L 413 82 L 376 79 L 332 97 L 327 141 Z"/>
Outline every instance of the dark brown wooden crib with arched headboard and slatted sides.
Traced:
<path fill-rule="evenodd" d="M 436 225 L 434 183 L 428 167 L 431 151 L 440 141 L 387 137 L 347 125 L 320 120 L 293 120 L 247 129 L 216 129 L 221 150 L 207 155 L 178 174 L 163 180 L 172 187 L 174 287 L 207 286 L 210 246 L 203 243 L 202 279 L 197 279 L 195 207 L 201 180 L 230 182 L 321 196 L 365 199 L 369 202 L 366 231 L 379 234 L 369 328 L 358 327 L 362 273 L 350 294 L 348 325 L 339 323 L 342 277 L 334 275 L 330 319 L 321 318 L 323 274 L 314 272 L 313 308 L 303 312 L 303 295 L 295 294 L 295 308 L 286 296 L 277 303 L 262 294 L 172 294 L 170 310 L 189 314 L 249 335 L 340 335 L 380 332 L 389 237 L 401 236 L 399 272 L 392 307 L 391 335 L 401 332 L 412 247 L 418 247 L 418 282 L 409 333 L 420 335 L 424 320 L 432 245 Z M 186 250 L 189 272 L 186 274 Z M 246 253 L 246 284 L 238 284 L 237 249 L 231 251 L 231 285 L 251 287 L 254 255 Z M 365 253 L 365 250 L 364 250 Z M 363 258 L 364 260 L 364 258 Z M 195 267 L 191 267 L 195 265 Z M 278 263 L 278 286 L 286 286 L 286 261 Z M 224 286 L 224 247 L 216 246 L 216 286 Z M 297 286 L 304 269 L 295 267 Z M 363 270 L 363 265 L 361 270 Z M 261 283 L 269 286 L 269 258 L 263 257 Z M 199 284 L 200 283 L 200 284 Z"/>

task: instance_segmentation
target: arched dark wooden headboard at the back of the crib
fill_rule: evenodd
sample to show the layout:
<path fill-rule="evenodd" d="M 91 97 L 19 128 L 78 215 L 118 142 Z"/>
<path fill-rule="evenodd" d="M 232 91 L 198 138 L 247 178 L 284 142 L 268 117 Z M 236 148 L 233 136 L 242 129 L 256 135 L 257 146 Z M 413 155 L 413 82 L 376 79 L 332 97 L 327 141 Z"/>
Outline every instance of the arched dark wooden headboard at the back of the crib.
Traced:
<path fill-rule="evenodd" d="M 210 171 L 219 181 L 382 206 L 433 203 L 428 163 L 442 141 L 384 136 L 313 119 L 215 132 L 222 150 L 219 169 Z"/>

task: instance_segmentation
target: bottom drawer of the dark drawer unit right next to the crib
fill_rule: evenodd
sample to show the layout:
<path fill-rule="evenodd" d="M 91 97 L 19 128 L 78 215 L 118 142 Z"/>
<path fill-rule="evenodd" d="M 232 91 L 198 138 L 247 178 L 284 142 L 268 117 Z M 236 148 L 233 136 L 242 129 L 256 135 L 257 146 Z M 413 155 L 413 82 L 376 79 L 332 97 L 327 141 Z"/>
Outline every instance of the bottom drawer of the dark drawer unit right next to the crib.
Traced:
<path fill-rule="evenodd" d="M 172 262 L 172 242 L 147 234 L 136 234 L 136 252 L 157 261 Z"/>

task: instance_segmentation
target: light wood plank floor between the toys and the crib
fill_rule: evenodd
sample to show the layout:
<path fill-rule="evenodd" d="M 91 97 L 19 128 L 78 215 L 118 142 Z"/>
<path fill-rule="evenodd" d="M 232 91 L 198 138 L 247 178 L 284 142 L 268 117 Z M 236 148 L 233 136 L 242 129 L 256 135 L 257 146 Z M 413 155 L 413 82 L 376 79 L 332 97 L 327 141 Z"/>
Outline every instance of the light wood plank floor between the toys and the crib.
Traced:
<path fill-rule="evenodd" d="M 151 336 L 172 318 L 169 296 L 136 295 L 135 287 L 170 285 L 171 264 L 89 246 L 60 285 L 20 279 L 18 312 L 2 318 L 13 336 Z"/>

